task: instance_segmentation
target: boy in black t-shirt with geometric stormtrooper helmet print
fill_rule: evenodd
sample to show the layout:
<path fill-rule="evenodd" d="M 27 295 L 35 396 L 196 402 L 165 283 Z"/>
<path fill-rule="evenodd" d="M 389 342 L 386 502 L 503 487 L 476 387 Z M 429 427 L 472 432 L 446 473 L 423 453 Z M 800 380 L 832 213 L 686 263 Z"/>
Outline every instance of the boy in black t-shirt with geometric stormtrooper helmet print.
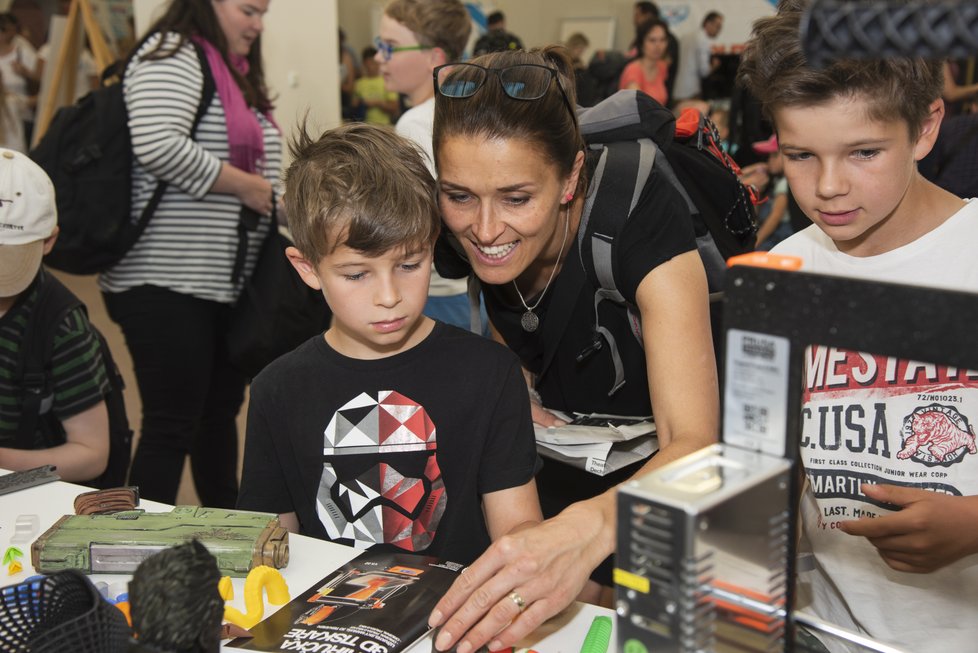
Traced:
<path fill-rule="evenodd" d="M 238 506 L 469 563 L 541 519 L 519 361 L 422 313 L 440 217 L 412 143 L 349 124 L 293 154 L 286 255 L 333 324 L 252 384 Z"/>

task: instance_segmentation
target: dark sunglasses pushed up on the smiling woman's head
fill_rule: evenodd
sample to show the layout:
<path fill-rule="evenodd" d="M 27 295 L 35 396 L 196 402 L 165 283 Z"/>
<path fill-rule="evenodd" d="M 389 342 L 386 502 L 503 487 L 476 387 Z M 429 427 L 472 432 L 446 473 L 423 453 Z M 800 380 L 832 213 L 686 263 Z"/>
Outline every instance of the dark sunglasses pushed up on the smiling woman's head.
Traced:
<path fill-rule="evenodd" d="M 503 93 L 514 100 L 539 100 L 550 90 L 550 84 L 556 83 L 567 110 L 572 116 L 576 115 L 557 71 L 535 63 L 513 64 L 502 68 L 486 68 L 474 63 L 437 66 L 433 73 L 435 92 L 450 98 L 470 98 L 485 85 L 490 74 L 499 80 Z"/>

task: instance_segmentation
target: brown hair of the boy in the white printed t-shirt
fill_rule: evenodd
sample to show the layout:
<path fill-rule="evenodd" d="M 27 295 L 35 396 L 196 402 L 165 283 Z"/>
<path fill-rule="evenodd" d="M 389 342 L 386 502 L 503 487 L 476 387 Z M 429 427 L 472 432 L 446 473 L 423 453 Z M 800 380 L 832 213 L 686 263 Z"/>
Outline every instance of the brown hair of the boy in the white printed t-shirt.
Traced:
<path fill-rule="evenodd" d="M 799 29 L 807 5 L 807 0 L 781 0 L 775 16 L 754 23 L 741 55 L 738 83 L 760 101 L 769 118 L 783 107 L 858 97 L 868 103 L 871 118 L 903 120 L 911 140 L 916 140 L 931 103 L 941 97 L 941 62 L 909 57 L 840 59 L 814 68 L 802 49 Z"/>

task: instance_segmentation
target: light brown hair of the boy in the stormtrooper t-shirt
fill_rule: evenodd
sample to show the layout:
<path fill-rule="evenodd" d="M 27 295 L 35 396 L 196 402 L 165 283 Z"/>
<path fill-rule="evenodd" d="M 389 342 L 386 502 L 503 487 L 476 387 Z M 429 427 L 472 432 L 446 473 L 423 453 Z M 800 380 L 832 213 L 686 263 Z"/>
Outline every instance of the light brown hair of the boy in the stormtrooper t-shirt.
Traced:
<path fill-rule="evenodd" d="M 393 130 L 350 123 L 290 143 L 285 209 L 295 246 L 319 263 L 340 245 L 379 256 L 434 244 L 441 224 L 424 154 Z"/>

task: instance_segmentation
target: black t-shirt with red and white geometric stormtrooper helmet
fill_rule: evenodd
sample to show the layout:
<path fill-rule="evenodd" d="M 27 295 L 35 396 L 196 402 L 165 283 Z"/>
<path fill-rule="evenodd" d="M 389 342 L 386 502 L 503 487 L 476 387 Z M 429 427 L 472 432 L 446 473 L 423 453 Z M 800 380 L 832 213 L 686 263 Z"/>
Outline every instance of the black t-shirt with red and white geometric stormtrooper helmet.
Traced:
<path fill-rule="evenodd" d="M 537 465 L 505 347 L 436 323 L 406 352 L 360 360 L 320 335 L 251 386 L 238 507 L 295 512 L 303 535 L 468 564 L 490 543 L 482 495 Z"/>

